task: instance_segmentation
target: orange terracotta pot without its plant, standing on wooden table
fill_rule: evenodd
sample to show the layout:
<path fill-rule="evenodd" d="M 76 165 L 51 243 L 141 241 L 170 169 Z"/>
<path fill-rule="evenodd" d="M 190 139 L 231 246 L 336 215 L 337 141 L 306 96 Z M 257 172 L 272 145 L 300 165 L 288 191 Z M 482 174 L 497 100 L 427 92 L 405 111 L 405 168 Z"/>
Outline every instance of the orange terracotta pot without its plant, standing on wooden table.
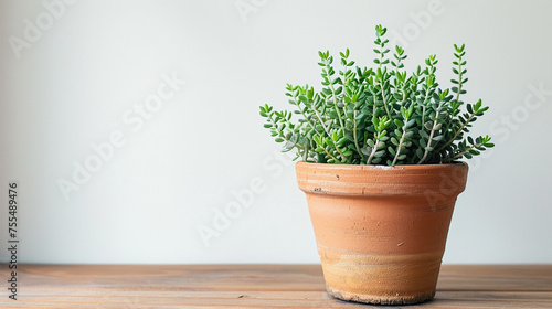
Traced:
<path fill-rule="evenodd" d="M 466 163 L 298 162 L 328 292 L 365 303 L 432 299 Z"/>

